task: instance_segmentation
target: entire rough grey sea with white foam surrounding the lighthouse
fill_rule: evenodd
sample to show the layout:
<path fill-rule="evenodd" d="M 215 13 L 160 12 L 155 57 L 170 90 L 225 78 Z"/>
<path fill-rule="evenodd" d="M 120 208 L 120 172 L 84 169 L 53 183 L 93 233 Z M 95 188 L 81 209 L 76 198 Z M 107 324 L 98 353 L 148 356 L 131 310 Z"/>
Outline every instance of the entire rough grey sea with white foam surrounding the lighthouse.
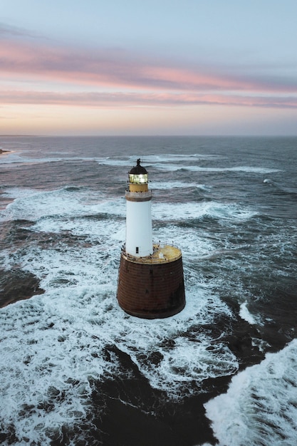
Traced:
<path fill-rule="evenodd" d="M 0 137 L 2 445 L 297 444 L 297 138 Z M 116 299 L 127 174 L 186 306 Z"/>

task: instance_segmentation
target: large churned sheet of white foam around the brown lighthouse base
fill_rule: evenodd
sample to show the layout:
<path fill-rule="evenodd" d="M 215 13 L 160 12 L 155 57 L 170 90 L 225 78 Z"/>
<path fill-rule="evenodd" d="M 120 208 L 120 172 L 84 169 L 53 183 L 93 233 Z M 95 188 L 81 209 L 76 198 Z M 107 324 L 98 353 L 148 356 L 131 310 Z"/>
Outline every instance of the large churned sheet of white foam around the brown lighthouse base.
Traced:
<path fill-rule="evenodd" d="M 168 398 L 178 398 L 184 386 L 190 391 L 193 383 L 197 387 L 238 367 L 219 340 L 209 351 L 211 337 L 197 333 L 188 340 L 180 335 L 211 324 L 218 313 L 229 314 L 197 278 L 192 279 L 194 286 L 187 284 L 187 306 L 179 315 L 156 321 L 126 316 L 115 299 L 120 250 L 116 242 L 108 242 L 105 250 L 29 247 L 14 257 L 23 269 L 37 274 L 46 289 L 0 312 L 5 333 L 0 345 L 0 415 L 16 427 L 20 438 L 46 442 L 47 430 L 63 424 L 71 428 L 87 417 L 90 378 L 123 373 L 116 358 L 108 360 L 103 354 L 110 344 L 128 353 L 150 384 L 165 390 Z M 157 365 L 147 361 L 155 352 L 162 356 Z M 53 393 L 64 395 L 63 400 Z M 43 408 L 48 401 L 53 405 L 50 413 Z M 33 413 L 23 414 L 24 405 L 31 405 Z"/>

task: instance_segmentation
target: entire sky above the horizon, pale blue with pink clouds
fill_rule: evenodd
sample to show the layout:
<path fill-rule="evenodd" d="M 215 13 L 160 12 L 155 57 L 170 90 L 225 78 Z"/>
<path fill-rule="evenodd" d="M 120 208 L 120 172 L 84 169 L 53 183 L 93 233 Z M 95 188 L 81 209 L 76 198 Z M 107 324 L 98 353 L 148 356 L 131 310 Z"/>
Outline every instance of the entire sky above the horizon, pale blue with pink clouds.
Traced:
<path fill-rule="evenodd" d="M 0 0 L 0 134 L 297 135 L 297 1 Z"/>

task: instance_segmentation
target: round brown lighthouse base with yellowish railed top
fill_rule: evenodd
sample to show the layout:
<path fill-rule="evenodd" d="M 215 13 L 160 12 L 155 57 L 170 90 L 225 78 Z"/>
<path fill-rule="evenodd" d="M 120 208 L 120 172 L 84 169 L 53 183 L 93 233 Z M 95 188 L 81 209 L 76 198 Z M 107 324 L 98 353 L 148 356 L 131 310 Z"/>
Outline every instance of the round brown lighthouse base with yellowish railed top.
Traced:
<path fill-rule="evenodd" d="M 118 303 L 140 318 L 166 318 L 185 305 L 182 252 L 171 245 L 153 244 L 149 256 L 120 258 Z"/>

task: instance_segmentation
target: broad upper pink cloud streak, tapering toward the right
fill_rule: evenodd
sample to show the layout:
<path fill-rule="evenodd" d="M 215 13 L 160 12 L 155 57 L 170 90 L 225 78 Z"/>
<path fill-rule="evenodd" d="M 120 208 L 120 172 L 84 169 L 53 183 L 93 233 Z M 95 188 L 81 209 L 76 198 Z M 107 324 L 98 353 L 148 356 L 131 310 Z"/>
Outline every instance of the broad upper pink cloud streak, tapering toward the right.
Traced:
<path fill-rule="evenodd" d="M 250 91 L 294 93 L 295 78 L 271 78 L 226 71 L 222 67 L 190 66 L 127 53 L 115 48 L 91 51 L 53 46 L 36 39 L 7 38 L 0 45 L 1 73 L 14 79 L 108 86 L 149 91 Z"/>

